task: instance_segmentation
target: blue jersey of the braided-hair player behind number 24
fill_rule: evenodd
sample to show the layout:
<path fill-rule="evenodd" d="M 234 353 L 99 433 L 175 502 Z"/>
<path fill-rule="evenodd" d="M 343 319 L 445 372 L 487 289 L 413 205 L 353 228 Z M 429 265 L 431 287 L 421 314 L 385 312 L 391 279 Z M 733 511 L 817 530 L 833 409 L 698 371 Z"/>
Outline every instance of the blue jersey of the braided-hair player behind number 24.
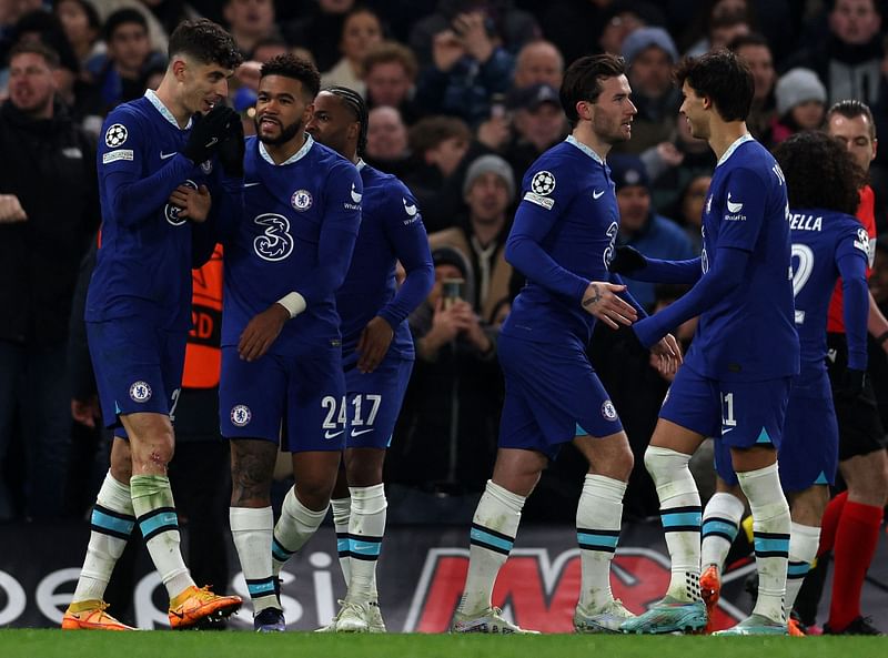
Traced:
<path fill-rule="evenodd" d="M 363 161 L 357 166 L 364 185 L 361 231 L 345 282 L 336 293 L 345 367 L 356 361 L 361 332 L 376 315 L 394 328 L 389 354 L 413 358 L 406 317 L 434 283 L 428 237 L 416 199 L 397 178 Z M 395 282 L 397 261 L 407 272 L 400 291 Z"/>

